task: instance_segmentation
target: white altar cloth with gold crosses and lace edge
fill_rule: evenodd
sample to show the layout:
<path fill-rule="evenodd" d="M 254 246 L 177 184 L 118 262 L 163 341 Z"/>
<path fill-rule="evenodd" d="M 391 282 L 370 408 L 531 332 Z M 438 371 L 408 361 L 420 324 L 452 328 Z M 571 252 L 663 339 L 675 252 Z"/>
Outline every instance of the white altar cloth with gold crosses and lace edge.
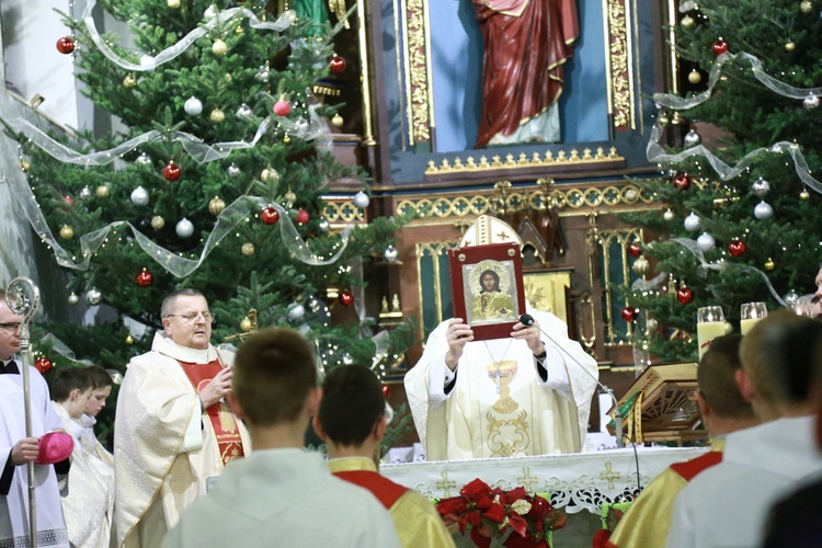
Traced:
<path fill-rule="evenodd" d="M 438 460 L 380 465 L 383 476 L 419 491 L 430 499 L 459 494 L 479 478 L 491 487 L 524 487 L 529 492 L 549 493 L 555 506 L 574 514 L 586 510 L 600 514 L 603 503 L 632 501 L 638 482 L 644 488 L 674 463 L 706 453 L 707 447 L 630 447 L 573 455 Z M 637 478 L 639 461 L 639 479 Z"/>

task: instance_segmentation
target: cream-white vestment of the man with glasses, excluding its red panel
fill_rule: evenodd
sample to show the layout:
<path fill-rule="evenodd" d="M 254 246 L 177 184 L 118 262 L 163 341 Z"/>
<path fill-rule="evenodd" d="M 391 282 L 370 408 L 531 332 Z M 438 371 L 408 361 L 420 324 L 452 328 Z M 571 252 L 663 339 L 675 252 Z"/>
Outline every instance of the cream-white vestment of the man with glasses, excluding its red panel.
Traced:
<path fill-rule="evenodd" d="M 178 362 L 218 357 L 228 366 L 233 355 L 180 346 L 157 333 L 151 352 L 129 362 L 114 420 L 117 546 L 159 546 L 183 509 L 206 494 L 206 480 L 222 471 L 210 418 Z M 248 432 L 238 426 L 248 455 Z"/>

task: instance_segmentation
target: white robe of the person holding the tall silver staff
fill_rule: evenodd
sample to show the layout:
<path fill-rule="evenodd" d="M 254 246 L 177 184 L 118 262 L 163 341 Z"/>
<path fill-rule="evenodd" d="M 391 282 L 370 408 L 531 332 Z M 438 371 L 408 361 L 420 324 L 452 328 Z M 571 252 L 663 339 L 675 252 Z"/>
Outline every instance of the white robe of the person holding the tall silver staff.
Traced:
<path fill-rule="evenodd" d="M 18 362 L 18 368 L 22 367 Z M 28 367 L 32 409 L 32 435 L 39 437 L 60 427 L 52 407 L 48 386 L 34 367 Z M 11 449 L 25 435 L 23 376 L 0 375 L 0 470 Z M 34 465 L 34 498 L 37 510 L 37 546 L 69 546 L 60 507 L 57 475 L 53 465 Z M 28 546 L 28 472 L 26 466 L 14 468 L 9 494 L 0 495 L 0 546 Z"/>

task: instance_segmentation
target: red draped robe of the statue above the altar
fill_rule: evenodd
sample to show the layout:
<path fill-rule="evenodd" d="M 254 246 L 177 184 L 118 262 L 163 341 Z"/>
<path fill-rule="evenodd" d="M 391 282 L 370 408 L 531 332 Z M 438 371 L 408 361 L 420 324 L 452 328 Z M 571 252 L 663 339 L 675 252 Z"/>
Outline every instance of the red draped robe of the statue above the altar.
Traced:
<path fill-rule="evenodd" d="M 575 0 L 472 2 L 484 45 L 480 148 L 496 134 L 513 134 L 557 102 L 579 20 Z"/>

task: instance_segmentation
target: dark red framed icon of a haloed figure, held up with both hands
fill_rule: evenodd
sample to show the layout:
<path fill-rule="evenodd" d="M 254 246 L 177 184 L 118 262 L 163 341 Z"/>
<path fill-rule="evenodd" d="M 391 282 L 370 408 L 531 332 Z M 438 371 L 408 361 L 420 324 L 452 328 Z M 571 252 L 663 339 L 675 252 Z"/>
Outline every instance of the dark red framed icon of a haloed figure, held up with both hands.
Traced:
<path fill-rule="evenodd" d="M 522 254 L 516 243 L 493 243 L 449 252 L 454 315 L 475 340 L 503 339 L 525 312 Z"/>

